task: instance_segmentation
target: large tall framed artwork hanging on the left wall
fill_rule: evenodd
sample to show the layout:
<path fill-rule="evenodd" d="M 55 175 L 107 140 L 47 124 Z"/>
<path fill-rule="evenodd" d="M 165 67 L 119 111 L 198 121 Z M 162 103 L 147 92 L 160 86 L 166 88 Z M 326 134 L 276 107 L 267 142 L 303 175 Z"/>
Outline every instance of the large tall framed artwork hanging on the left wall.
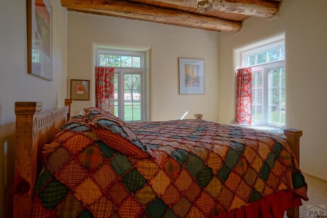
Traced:
<path fill-rule="evenodd" d="M 52 6 L 27 0 L 27 72 L 52 81 Z"/>

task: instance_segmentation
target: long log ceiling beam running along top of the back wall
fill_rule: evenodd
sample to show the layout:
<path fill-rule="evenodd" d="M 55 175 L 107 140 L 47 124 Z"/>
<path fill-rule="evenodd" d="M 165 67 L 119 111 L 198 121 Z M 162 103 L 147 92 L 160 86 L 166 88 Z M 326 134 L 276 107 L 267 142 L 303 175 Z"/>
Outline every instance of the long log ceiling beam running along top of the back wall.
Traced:
<path fill-rule="evenodd" d="M 61 0 L 69 11 L 151 21 L 209 31 L 240 32 L 242 23 L 123 0 Z"/>

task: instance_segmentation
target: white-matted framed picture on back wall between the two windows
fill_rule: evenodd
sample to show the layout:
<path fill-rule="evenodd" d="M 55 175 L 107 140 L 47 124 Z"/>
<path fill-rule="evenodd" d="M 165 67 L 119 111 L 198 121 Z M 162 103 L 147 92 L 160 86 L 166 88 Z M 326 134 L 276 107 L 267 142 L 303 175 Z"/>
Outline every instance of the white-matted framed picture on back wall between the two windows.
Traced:
<path fill-rule="evenodd" d="M 179 58 L 179 94 L 204 94 L 204 60 Z"/>

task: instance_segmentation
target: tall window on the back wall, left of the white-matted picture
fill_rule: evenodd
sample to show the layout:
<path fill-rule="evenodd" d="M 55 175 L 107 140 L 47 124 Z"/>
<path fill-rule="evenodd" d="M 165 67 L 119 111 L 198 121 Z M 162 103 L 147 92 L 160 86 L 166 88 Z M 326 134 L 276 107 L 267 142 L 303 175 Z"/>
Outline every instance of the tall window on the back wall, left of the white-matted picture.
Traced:
<path fill-rule="evenodd" d="M 125 121 L 146 120 L 146 54 L 97 50 L 97 64 L 114 68 L 114 115 Z"/>

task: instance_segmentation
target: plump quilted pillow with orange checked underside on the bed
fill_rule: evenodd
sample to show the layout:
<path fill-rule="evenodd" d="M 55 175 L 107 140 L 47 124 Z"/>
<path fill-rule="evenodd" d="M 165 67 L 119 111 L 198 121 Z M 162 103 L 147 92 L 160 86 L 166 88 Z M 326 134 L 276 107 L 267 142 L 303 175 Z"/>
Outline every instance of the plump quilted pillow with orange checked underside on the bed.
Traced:
<path fill-rule="evenodd" d="M 150 157 L 146 146 L 123 120 L 99 108 L 87 108 L 85 112 L 92 131 L 109 147 L 132 158 Z"/>

